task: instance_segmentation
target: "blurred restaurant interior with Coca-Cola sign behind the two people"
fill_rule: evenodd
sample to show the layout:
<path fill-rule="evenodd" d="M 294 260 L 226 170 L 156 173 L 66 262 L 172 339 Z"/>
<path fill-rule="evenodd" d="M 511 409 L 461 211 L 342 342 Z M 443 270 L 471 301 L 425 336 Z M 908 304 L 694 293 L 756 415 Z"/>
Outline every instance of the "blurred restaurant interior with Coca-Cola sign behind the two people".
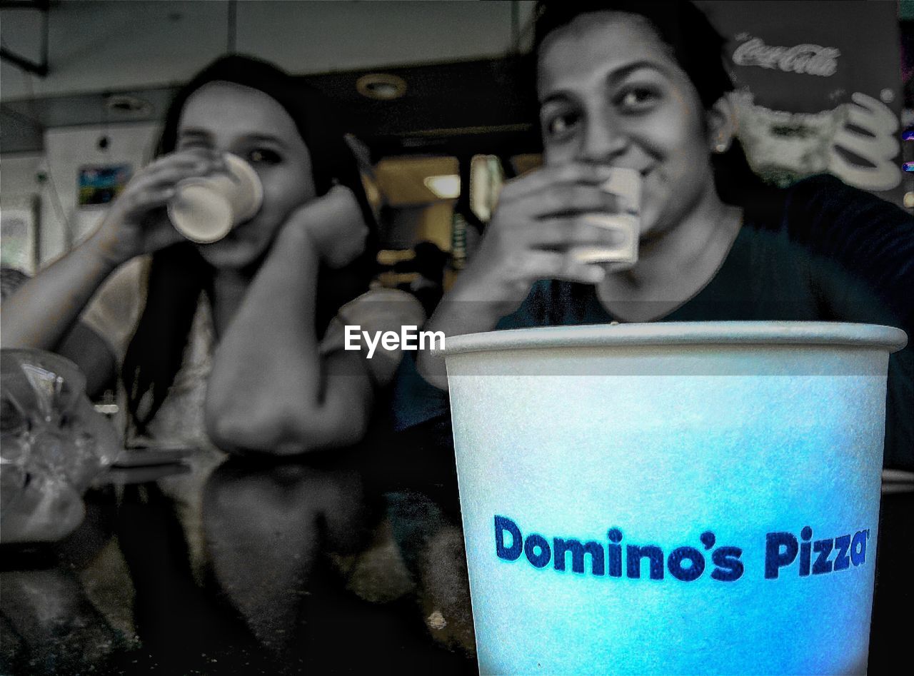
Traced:
<path fill-rule="evenodd" d="M 728 38 L 740 138 L 772 183 L 820 172 L 914 208 L 914 0 L 700 0 Z M 3 265 L 84 238 L 151 159 L 176 87 L 228 52 L 345 114 L 386 286 L 446 287 L 502 183 L 540 162 L 535 3 L 2 0 Z M 417 246 L 419 245 L 419 246 Z M 432 294 L 434 295 L 434 294 Z M 421 295 L 420 295 L 421 298 Z"/>

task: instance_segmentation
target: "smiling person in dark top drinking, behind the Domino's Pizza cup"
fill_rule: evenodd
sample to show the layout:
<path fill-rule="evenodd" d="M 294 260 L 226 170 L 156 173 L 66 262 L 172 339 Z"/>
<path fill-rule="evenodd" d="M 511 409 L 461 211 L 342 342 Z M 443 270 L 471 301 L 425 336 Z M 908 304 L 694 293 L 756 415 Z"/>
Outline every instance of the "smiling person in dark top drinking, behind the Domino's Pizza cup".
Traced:
<path fill-rule="evenodd" d="M 540 3 L 545 166 L 505 185 L 480 248 L 426 329 L 824 320 L 910 334 L 911 218 L 831 176 L 761 185 L 735 138 L 723 46 L 685 2 Z M 626 248 L 632 228 L 636 255 Z M 912 357 L 910 347 L 892 355 L 887 400 L 885 461 L 907 468 Z M 427 455 L 450 458 L 446 388 L 441 353 L 401 365 L 399 428 Z M 456 485 L 440 497 L 456 516 Z M 451 630 L 469 617 L 465 576 L 454 573 L 459 528 L 441 529 L 429 549 L 427 615 Z"/>

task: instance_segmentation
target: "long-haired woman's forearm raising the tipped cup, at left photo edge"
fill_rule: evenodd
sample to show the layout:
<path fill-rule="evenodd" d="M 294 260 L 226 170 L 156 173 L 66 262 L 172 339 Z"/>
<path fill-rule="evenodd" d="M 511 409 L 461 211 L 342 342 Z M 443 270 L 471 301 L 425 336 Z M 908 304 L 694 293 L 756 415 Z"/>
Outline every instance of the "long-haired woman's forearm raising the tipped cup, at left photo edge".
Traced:
<path fill-rule="evenodd" d="M 92 295 L 116 267 L 98 239 L 89 238 L 4 301 L 0 344 L 5 348 L 58 349 Z"/>

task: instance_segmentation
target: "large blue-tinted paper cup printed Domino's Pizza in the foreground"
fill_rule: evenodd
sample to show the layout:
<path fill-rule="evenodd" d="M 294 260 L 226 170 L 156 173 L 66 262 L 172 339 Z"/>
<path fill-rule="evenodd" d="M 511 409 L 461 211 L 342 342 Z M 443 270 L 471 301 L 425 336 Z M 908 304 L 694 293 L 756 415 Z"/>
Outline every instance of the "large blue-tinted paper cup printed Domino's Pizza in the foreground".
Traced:
<path fill-rule="evenodd" d="M 824 322 L 449 339 L 480 671 L 866 672 L 906 340 Z"/>

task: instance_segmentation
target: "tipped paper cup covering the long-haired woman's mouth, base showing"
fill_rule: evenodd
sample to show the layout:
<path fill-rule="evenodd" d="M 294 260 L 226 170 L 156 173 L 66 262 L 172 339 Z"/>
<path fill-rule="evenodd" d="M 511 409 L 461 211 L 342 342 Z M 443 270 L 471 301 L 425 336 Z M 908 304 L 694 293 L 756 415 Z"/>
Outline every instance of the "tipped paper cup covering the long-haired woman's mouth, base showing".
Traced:
<path fill-rule="evenodd" d="M 168 204 L 175 229 L 198 244 L 224 238 L 252 217 L 263 201 L 263 186 L 254 168 L 237 155 L 224 155 L 228 173 L 188 178 L 178 184 Z"/>

